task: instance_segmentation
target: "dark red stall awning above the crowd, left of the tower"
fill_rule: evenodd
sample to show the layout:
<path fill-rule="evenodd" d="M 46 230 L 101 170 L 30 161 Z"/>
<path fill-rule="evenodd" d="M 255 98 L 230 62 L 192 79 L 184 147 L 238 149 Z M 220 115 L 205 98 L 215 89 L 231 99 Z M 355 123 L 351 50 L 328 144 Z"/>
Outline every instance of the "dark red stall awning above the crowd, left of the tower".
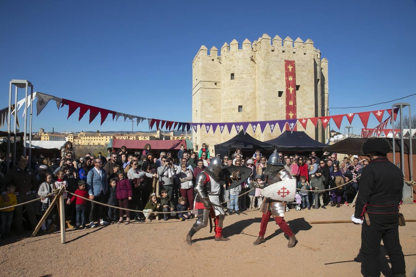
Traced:
<path fill-rule="evenodd" d="M 179 150 L 181 149 L 181 144 L 185 145 L 185 149 L 186 149 L 185 140 L 118 140 L 118 139 L 113 139 L 113 148 L 120 148 L 121 146 L 124 145 L 128 149 L 143 149 L 146 143 L 150 144 L 151 149 Z"/>

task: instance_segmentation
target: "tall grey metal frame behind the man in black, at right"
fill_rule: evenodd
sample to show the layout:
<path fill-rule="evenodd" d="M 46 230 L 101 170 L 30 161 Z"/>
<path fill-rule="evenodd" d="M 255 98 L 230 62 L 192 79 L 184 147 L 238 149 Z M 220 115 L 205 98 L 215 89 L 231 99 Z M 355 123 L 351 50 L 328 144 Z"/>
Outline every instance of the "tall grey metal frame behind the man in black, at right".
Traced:
<path fill-rule="evenodd" d="M 391 126 L 393 128 L 393 163 L 396 164 L 396 149 L 395 149 L 395 140 L 396 136 L 394 135 L 394 108 L 399 108 L 400 112 L 400 167 L 404 175 L 404 133 L 403 133 L 403 108 L 409 107 L 409 155 L 410 155 L 410 181 L 413 180 L 413 149 L 412 149 L 412 126 L 411 126 L 411 110 L 409 103 L 396 103 L 391 105 Z M 413 203 L 413 186 L 408 186 L 406 183 L 403 184 L 403 203 Z"/>

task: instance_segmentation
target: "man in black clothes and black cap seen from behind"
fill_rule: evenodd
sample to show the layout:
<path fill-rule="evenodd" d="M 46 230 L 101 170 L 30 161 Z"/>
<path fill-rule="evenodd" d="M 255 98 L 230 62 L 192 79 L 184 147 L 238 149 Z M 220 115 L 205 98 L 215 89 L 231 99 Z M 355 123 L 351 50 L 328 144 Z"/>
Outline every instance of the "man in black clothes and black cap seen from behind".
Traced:
<path fill-rule="evenodd" d="M 406 276 L 399 240 L 403 173 L 387 159 L 389 152 L 390 145 L 382 138 L 364 142 L 363 153 L 369 155 L 370 162 L 362 171 L 355 213 L 351 218 L 354 223 L 362 224 L 364 276 L 380 276 L 381 240 L 389 255 L 394 276 Z"/>

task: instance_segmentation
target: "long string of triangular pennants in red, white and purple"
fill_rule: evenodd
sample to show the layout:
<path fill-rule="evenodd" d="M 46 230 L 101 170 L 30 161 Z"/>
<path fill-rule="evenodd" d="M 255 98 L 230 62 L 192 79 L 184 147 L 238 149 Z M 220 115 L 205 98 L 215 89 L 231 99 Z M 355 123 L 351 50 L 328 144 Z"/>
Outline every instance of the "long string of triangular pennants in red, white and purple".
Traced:
<path fill-rule="evenodd" d="M 29 97 L 29 96 L 28 96 Z M 309 121 L 314 125 L 314 127 L 317 127 L 318 119 L 320 124 L 322 124 L 323 128 L 326 128 L 329 124 L 329 121 L 334 121 L 335 125 L 338 129 L 341 128 L 342 120 L 344 117 L 347 118 L 348 122 L 352 124 L 352 120 L 355 115 L 358 115 L 364 129 L 362 129 L 362 133 L 364 135 L 371 135 L 374 133 L 381 134 L 382 132 L 385 133 L 384 129 L 386 127 L 386 120 L 383 121 L 384 113 L 387 111 L 389 114 L 389 120 L 391 122 L 392 120 L 392 112 L 391 109 L 384 109 L 384 110 L 373 110 L 373 111 L 367 111 L 367 112 L 360 112 L 360 113 L 347 113 L 342 115 L 327 115 L 322 117 L 312 117 L 312 118 L 291 118 L 289 116 L 287 119 L 283 120 L 267 120 L 267 121 L 253 121 L 253 122 L 225 122 L 225 123 L 186 123 L 186 122 L 178 122 L 178 121 L 170 121 L 170 120 L 161 120 L 156 118 L 144 118 L 136 115 L 130 115 L 126 113 L 120 113 L 113 110 L 107 110 L 104 108 L 95 107 L 92 105 L 87 105 L 84 103 L 79 103 L 76 101 L 71 101 L 64 98 L 59 98 L 57 96 L 52 96 L 49 94 L 41 93 L 41 92 L 34 92 L 33 93 L 33 99 L 37 98 L 36 100 L 36 107 L 37 107 L 37 115 L 39 115 L 42 110 L 45 108 L 47 103 L 49 103 L 51 100 L 55 101 L 57 104 L 57 108 L 62 108 L 64 105 L 68 106 L 68 116 L 69 118 L 78 108 L 79 108 L 79 116 L 78 120 L 81 120 L 84 115 L 89 111 L 89 123 L 91 123 L 95 118 L 97 118 L 97 115 L 100 114 L 100 123 L 101 125 L 104 123 L 106 118 L 109 114 L 112 115 L 113 120 L 116 121 L 121 118 L 124 118 L 124 121 L 126 121 L 127 118 L 129 120 L 136 120 L 136 124 L 139 125 L 139 123 L 143 122 L 145 119 L 148 120 L 149 129 L 151 130 L 156 126 L 156 129 L 162 129 L 165 127 L 166 130 L 182 130 L 182 131 L 188 131 L 193 129 L 193 131 L 198 130 L 198 125 L 200 129 L 202 130 L 202 126 L 205 126 L 205 131 L 208 133 L 210 130 L 213 130 L 215 133 L 219 127 L 220 132 L 223 133 L 224 128 L 227 127 L 228 133 L 232 132 L 233 127 L 237 132 L 240 132 L 243 130 L 243 132 L 247 132 L 248 126 L 251 125 L 253 133 L 256 132 L 258 127 L 260 127 L 260 131 L 263 133 L 266 126 L 269 125 L 270 132 L 273 132 L 275 128 L 278 126 L 279 130 L 283 132 L 285 129 L 290 130 L 293 132 L 296 130 L 297 123 L 299 123 L 304 129 L 307 128 L 307 124 Z M 30 102 L 30 98 L 28 98 L 28 102 Z M 22 99 L 18 102 L 17 110 L 19 110 L 23 105 L 25 104 L 25 99 Z M 31 103 L 28 103 L 27 107 L 29 107 Z M 289 104 L 288 104 L 289 105 Z M 394 119 L 396 120 L 397 113 L 399 111 L 399 108 L 394 109 Z M 13 109 L 14 112 L 14 109 Z M 292 111 L 293 115 L 296 116 L 296 113 Z M 380 125 L 373 129 L 367 129 L 367 124 L 369 121 L 369 115 L 373 114 L 376 118 L 376 120 L 379 121 Z M 293 116 L 293 117 L 295 117 Z M 0 125 L 4 125 L 5 120 L 7 120 L 7 108 L 0 110 Z M 299 126 L 300 126 L 299 125 Z M 287 126 L 287 127 L 286 127 Z"/>

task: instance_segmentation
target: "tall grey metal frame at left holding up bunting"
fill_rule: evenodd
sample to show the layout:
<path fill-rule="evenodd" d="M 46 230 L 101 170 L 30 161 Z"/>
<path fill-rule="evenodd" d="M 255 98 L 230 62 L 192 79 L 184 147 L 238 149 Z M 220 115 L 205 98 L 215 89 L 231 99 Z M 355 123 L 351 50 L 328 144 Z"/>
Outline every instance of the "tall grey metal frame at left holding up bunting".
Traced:
<path fill-rule="evenodd" d="M 12 113 L 12 86 L 15 86 L 15 120 L 14 120 L 14 141 L 13 141 L 13 153 L 12 153 L 12 160 L 13 166 L 16 165 L 16 123 L 17 123 L 17 92 L 18 88 L 25 88 L 25 124 L 24 124 L 24 131 L 23 131 L 23 145 L 22 150 L 23 153 L 26 155 L 26 131 L 27 131 L 27 95 L 30 87 L 30 115 L 29 115 L 29 159 L 28 164 L 30 165 L 30 158 L 32 156 L 32 109 L 33 109 L 33 85 L 30 81 L 27 80 L 14 80 L 10 81 L 9 85 L 9 111 L 8 111 L 8 118 L 7 118 L 7 154 L 6 154 L 6 161 L 7 161 L 7 172 L 10 169 L 10 125 L 12 122 L 11 113 Z"/>

